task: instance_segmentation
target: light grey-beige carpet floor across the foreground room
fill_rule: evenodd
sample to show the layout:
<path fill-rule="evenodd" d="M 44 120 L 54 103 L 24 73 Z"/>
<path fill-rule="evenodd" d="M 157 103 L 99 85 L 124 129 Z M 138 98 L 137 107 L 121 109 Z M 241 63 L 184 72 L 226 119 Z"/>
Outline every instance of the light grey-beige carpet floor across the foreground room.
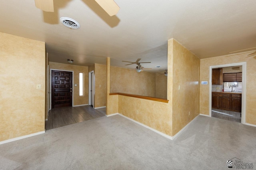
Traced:
<path fill-rule="evenodd" d="M 198 116 L 173 141 L 120 115 L 59 127 L 0 145 L 1 170 L 225 170 L 256 168 L 256 127 Z M 235 158 L 235 159 L 236 159 Z"/>

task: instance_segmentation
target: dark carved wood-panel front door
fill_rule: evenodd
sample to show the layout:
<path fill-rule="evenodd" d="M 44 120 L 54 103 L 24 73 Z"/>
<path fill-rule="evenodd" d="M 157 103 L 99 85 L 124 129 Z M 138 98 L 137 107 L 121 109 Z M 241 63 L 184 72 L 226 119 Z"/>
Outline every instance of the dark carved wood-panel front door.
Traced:
<path fill-rule="evenodd" d="M 72 106 L 72 72 L 52 70 L 52 109 Z"/>

